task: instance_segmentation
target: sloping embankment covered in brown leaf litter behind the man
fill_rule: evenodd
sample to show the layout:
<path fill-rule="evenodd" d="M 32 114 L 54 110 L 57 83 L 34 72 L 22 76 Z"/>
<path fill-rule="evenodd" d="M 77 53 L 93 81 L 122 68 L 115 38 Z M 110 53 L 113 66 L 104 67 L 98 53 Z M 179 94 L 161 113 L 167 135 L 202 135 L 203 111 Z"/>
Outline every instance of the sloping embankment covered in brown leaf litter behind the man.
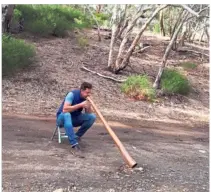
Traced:
<path fill-rule="evenodd" d="M 166 48 L 166 41 L 145 34 L 142 41 L 151 45 L 144 53 L 131 58 L 131 67 L 116 76 L 106 69 L 109 40 L 96 41 L 96 33 L 86 31 L 88 47 L 81 48 L 74 36 L 37 38 L 21 34 L 36 46 L 37 58 L 29 71 L 17 73 L 2 80 L 3 113 L 35 116 L 53 116 L 64 95 L 81 82 L 93 84 L 93 99 L 109 119 L 159 120 L 170 122 L 208 122 L 209 119 L 209 68 L 195 54 L 171 52 L 168 65 L 180 67 L 182 61 L 193 61 L 198 67 L 186 72 L 193 91 L 188 97 L 172 96 L 159 99 L 158 103 L 133 101 L 120 91 L 120 84 L 87 71 L 87 68 L 115 77 L 126 78 L 131 74 L 147 73 L 154 78 Z"/>

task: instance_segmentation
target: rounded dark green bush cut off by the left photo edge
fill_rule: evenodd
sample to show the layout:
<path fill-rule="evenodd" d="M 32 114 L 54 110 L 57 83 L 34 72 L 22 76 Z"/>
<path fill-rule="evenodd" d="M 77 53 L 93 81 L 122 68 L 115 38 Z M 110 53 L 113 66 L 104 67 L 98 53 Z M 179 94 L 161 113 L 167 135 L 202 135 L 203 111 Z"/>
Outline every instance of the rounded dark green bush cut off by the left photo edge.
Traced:
<path fill-rule="evenodd" d="M 23 40 L 2 36 L 2 74 L 8 75 L 27 67 L 35 56 L 35 48 Z"/>

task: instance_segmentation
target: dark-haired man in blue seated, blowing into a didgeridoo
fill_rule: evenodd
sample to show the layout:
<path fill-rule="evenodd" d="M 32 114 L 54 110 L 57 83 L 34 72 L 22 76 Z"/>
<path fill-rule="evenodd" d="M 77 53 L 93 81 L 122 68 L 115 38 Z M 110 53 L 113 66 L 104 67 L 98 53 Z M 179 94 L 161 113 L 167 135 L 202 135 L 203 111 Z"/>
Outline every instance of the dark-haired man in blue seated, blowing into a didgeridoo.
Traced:
<path fill-rule="evenodd" d="M 96 115 L 91 111 L 91 105 L 86 100 L 91 94 L 92 85 L 81 84 L 80 89 L 70 91 L 57 111 L 57 125 L 64 127 L 73 151 L 80 151 L 78 141 L 93 125 Z M 85 109 L 85 113 L 82 110 Z M 73 127 L 80 126 L 75 133 Z"/>

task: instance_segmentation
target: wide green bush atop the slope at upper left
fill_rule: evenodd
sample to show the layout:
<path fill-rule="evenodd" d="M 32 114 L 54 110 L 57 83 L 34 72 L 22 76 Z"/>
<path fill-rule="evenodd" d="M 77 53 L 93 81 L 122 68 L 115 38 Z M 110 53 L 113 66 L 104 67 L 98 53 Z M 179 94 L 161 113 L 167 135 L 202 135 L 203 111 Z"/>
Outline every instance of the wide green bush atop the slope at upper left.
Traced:
<path fill-rule="evenodd" d="M 91 21 L 79 10 L 62 5 L 17 5 L 16 17 L 24 18 L 24 28 L 41 36 L 64 37 L 68 30 L 85 28 Z"/>

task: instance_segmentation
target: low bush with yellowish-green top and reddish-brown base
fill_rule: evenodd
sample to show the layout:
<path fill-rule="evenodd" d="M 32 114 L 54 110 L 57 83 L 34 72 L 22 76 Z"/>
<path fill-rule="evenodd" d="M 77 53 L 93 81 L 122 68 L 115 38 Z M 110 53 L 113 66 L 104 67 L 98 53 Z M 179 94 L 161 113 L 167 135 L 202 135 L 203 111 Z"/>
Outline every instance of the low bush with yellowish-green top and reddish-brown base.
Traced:
<path fill-rule="evenodd" d="M 128 77 L 122 84 L 121 91 L 138 100 L 153 101 L 155 99 L 155 89 L 146 75 Z"/>

